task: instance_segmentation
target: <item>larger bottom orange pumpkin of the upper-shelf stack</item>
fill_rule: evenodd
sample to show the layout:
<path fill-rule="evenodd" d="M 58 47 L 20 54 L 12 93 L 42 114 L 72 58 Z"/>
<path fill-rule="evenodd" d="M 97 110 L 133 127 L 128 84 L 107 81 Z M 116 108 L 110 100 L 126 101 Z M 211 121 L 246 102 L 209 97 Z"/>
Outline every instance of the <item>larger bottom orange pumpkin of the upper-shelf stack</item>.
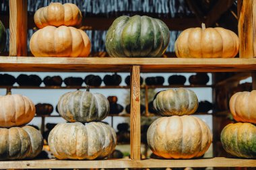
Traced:
<path fill-rule="evenodd" d="M 30 39 L 30 50 L 34 56 L 88 56 L 90 49 L 86 32 L 73 27 L 46 26 Z"/>

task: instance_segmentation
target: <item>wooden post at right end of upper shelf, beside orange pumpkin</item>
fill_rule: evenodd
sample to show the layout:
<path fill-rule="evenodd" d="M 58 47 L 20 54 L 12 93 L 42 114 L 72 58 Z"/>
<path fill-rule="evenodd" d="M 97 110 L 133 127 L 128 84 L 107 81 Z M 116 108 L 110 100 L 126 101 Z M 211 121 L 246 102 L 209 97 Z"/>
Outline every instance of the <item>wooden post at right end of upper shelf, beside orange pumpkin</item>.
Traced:
<path fill-rule="evenodd" d="M 256 0 L 238 1 L 238 35 L 241 58 L 256 57 Z"/>

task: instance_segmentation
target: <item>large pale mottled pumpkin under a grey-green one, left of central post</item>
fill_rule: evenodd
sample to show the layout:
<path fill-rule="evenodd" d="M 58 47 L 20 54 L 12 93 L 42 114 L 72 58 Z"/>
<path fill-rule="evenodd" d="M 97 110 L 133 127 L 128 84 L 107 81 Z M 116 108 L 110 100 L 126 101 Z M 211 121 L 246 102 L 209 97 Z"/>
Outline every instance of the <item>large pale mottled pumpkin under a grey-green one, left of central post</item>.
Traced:
<path fill-rule="evenodd" d="M 103 159 L 112 153 L 117 135 L 102 122 L 57 124 L 49 134 L 49 146 L 57 159 Z"/>

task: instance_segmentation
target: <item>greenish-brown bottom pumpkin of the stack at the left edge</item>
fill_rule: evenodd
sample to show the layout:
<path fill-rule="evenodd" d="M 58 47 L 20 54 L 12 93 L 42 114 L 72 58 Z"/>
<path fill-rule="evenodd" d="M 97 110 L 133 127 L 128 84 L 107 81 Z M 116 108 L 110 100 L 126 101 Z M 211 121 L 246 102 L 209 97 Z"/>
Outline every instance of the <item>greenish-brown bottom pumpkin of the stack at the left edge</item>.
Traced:
<path fill-rule="evenodd" d="M 42 145 L 41 133 L 31 126 L 0 128 L 0 160 L 32 159 Z"/>

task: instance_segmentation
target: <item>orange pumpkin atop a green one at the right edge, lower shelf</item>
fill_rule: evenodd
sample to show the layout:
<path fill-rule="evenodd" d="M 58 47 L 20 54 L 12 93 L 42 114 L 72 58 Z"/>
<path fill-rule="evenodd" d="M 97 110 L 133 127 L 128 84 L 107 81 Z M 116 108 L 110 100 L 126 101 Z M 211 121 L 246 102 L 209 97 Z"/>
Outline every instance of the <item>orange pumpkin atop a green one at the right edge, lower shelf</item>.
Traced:
<path fill-rule="evenodd" d="M 232 95 L 229 101 L 230 112 L 237 122 L 256 124 L 256 90 L 243 91 Z"/>

